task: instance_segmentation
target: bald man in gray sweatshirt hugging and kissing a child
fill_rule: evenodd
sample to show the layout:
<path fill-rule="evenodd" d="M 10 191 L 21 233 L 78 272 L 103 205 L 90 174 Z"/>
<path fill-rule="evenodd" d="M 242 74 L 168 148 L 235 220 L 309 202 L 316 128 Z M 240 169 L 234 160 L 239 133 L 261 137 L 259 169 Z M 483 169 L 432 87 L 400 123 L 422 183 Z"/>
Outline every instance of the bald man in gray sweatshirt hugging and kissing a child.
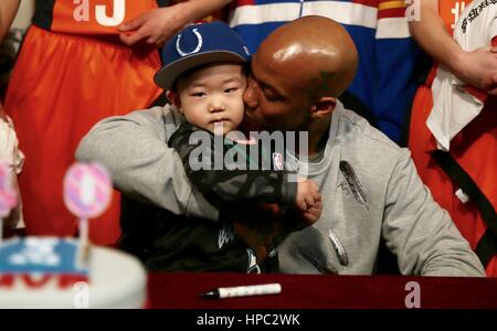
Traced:
<path fill-rule="evenodd" d="M 244 126 L 308 131 L 308 154 L 287 159 L 319 183 L 324 203 L 318 222 L 279 245 L 281 270 L 371 275 L 383 239 L 404 275 L 483 276 L 478 258 L 421 183 L 409 151 L 337 99 L 353 78 L 357 61 L 348 33 L 321 17 L 283 25 L 253 56 Z M 77 158 L 108 167 L 127 195 L 218 222 L 220 212 L 192 188 L 167 146 L 181 121 L 170 105 L 106 119 L 81 142 Z M 250 214 L 239 210 L 236 215 Z M 168 220 L 140 222 L 135 228 L 152 223 L 157 229 Z M 154 231 L 150 241 L 157 243 Z"/>

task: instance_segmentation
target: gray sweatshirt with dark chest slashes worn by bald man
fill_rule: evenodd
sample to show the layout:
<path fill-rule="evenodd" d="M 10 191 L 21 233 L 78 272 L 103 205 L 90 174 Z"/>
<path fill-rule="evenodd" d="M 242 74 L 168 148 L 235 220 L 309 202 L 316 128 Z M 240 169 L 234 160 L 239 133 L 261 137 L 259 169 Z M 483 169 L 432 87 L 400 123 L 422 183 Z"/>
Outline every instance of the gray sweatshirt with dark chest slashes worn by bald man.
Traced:
<path fill-rule="evenodd" d="M 169 105 L 107 118 L 82 140 L 76 158 L 106 166 L 116 188 L 130 196 L 215 222 L 219 212 L 192 188 L 179 156 L 167 146 L 182 121 Z M 421 182 L 409 150 L 340 103 L 322 158 L 307 166 L 324 210 L 317 223 L 282 243 L 282 271 L 374 274 L 383 239 L 403 275 L 485 275 L 447 212 Z"/>

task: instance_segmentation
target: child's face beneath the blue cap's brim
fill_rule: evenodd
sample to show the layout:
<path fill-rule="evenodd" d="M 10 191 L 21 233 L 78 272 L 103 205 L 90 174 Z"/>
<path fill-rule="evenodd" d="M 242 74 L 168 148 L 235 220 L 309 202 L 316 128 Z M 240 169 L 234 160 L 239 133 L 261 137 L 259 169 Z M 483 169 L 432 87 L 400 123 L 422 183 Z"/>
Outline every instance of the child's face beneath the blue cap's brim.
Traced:
<path fill-rule="evenodd" d="M 243 119 L 246 77 L 240 64 L 216 64 L 178 79 L 179 110 L 200 128 L 222 135 Z M 221 134 L 216 131 L 215 134 Z"/>

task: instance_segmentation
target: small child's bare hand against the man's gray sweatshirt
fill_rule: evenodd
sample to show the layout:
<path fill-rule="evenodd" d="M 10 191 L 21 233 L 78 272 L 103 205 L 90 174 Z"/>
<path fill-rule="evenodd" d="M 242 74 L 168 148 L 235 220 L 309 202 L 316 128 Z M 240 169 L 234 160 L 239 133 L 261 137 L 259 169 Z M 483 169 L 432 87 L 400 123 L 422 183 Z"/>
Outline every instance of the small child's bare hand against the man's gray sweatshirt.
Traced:
<path fill-rule="evenodd" d="M 304 179 L 297 183 L 296 205 L 307 225 L 311 225 L 319 220 L 322 202 L 318 185 L 314 181 Z"/>

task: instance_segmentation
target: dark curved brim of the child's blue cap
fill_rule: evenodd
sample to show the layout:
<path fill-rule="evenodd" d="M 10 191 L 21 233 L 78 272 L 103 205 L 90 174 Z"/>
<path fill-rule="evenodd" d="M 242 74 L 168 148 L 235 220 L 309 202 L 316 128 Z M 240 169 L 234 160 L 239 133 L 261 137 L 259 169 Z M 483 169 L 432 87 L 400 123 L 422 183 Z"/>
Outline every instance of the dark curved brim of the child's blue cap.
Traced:
<path fill-rule="evenodd" d="M 197 66 L 214 62 L 243 63 L 247 62 L 247 58 L 244 58 L 234 52 L 228 51 L 212 51 L 202 54 L 192 54 L 190 56 L 180 58 L 162 67 L 154 76 L 154 82 L 156 82 L 156 84 L 159 85 L 161 88 L 168 90 L 171 89 L 172 84 L 175 84 L 176 79 L 184 72 L 194 68 Z"/>

